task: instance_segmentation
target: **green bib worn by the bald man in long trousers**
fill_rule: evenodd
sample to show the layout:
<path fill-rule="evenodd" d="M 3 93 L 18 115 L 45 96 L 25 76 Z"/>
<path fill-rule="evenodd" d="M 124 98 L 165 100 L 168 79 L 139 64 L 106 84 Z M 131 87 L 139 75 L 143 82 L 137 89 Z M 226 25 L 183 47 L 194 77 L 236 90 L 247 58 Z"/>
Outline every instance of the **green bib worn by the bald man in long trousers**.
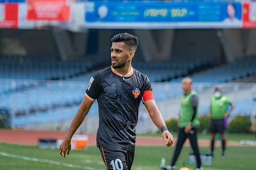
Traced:
<path fill-rule="evenodd" d="M 191 91 L 187 95 L 182 95 L 180 100 L 180 107 L 181 107 L 181 113 L 180 113 L 180 127 L 185 127 L 191 123 L 191 118 L 193 115 L 193 106 L 191 102 L 191 97 L 193 95 L 197 95 L 196 91 Z M 194 118 L 193 122 L 191 123 L 192 126 L 199 126 L 200 120 L 199 120 L 199 104 L 197 105 L 197 115 Z"/>

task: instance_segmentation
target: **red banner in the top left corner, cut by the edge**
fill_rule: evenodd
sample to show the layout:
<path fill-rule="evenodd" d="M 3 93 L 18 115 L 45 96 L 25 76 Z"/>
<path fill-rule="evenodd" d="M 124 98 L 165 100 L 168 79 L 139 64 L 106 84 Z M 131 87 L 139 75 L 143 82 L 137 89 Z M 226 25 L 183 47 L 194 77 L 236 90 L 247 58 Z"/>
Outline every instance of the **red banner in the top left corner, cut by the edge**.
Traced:
<path fill-rule="evenodd" d="M 0 3 L 0 28 L 18 28 L 18 4 Z"/>

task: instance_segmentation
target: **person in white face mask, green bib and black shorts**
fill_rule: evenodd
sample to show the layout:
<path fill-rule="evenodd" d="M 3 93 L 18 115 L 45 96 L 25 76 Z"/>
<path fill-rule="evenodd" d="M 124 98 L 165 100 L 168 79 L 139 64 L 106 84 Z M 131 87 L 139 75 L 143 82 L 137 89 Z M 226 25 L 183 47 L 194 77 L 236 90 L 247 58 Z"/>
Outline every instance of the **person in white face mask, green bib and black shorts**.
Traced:
<path fill-rule="evenodd" d="M 229 105 L 229 109 L 226 110 Z M 233 104 L 227 96 L 221 94 L 221 89 L 219 87 L 215 88 L 214 96 L 210 100 L 210 110 L 209 117 L 211 119 L 210 123 L 210 133 L 211 133 L 211 155 L 214 155 L 214 144 L 216 133 L 220 134 L 222 140 L 222 158 L 224 158 L 224 152 L 226 150 L 226 136 L 225 136 L 225 118 L 227 118 L 230 112 L 233 110 Z"/>

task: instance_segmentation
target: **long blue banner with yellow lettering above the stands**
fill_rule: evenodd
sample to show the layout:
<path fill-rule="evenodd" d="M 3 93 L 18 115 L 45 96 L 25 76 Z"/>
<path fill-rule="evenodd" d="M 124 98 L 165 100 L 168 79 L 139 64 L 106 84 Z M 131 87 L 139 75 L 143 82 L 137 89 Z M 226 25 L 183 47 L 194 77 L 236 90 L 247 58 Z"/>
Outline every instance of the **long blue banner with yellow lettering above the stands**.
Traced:
<path fill-rule="evenodd" d="M 135 28 L 136 23 L 139 27 L 143 27 L 143 23 L 149 26 L 151 23 L 166 26 L 184 23 L 185 27 L 191 23 L 191 26 L 207 27 L 210 22 L 217 27 L 241 28 L 241 11 L 241 3 L 227 2 L 88 2 L 85 20 L 88 26 L 90 23 L 95 23 L 94 26 L 112 23 L 115 27 L 117 23 L 121 26 L 130 22 Z"/>

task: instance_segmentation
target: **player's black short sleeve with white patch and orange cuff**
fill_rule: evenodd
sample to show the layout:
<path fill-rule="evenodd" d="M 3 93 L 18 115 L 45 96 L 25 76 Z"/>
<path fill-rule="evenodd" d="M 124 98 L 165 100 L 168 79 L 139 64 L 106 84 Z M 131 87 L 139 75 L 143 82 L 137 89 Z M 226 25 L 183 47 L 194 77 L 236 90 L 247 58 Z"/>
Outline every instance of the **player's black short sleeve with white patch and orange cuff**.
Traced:
<path fill-rule="evenodd" d="M 94 102 L 98 98 L 100 92 L 101 77 L 98 73 L 96 73 L 91 77 L 84 95 L 89 101 Z"/>

